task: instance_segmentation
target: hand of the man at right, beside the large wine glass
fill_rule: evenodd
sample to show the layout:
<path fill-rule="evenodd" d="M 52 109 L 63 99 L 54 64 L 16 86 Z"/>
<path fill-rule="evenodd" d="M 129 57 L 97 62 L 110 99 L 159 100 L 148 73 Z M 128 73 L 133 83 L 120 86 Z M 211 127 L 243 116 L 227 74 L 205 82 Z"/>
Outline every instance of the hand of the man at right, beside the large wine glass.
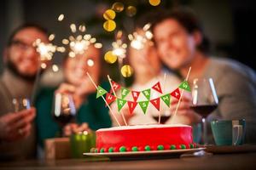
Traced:
<path fill-rule="evenodd" d="M 173 98 L 171 103 L 171 113 L 174 114 L 177 108 L 178 99 Z M 190 108 L 190 105 L 192 105 L 192 96 L 191 94 L 184 92 L 183 97 L 181 99 L 181 102 L 177 108 L 177 115 L 186 116 L 188 119 L 188 123 L 191 125 L 196 122 L 201 121 L 201 116 L 195 113 Z"/>

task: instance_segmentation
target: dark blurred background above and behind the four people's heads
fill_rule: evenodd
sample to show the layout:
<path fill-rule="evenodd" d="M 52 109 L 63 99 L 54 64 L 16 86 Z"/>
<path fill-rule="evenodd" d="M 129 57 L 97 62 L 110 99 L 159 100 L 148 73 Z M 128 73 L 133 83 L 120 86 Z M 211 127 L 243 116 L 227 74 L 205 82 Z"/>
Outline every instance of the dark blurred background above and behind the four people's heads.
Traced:
<path fill-rule="evenodd" d="M 104 49 L 111 48 L 114 34 L 102 29 L 101 10 L 111 8 L 113 0 L 1 0 L 0 1 L 0 53 L 7 38 L 15 27 L 24 22 L 35 22 L 55 33 L 55 43 L 61 44 L 70 34 L 71 23 L 85 23 L 88 32 L 103 42 Z M 152 7 L 148 0 L 119 0 L 125 6 L 135 5 L 137 15 L 128 17 L 125 12 L 117 16 L 119 29 L 129 32 L 133 21 L 148 10 L 173 8 L 180 5 L 195 9 L 207 36 L 212 42 L 212 54 L 237 59 L 256 69 L 253 62 L 255 47 L 255 11 L 253 1 L 249 0 L 162 0 L 159 7 Z M 59 14 L 65 14 L 62 22 L 57 21 Z M 130 32 L 129 32 L 130 33 Z M 3 55 L 2 55 L 3 56 Z M 55 54 L 55 63 L 60 63 L 63 54 Z M 3 71 L 3 58 L 0 61 Z"/>

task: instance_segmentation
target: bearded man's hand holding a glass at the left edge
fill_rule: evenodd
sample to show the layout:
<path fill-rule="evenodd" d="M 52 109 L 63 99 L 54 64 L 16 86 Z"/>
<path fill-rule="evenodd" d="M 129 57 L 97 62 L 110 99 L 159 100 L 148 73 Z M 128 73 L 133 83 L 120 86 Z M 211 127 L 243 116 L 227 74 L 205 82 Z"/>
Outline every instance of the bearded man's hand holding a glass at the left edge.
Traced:
<path fill-rule="evenodd" d="M 34 108 L 0 116 L 0 139 L 15 141 L 26 138 L 31 133 L 35 116 Z"/>

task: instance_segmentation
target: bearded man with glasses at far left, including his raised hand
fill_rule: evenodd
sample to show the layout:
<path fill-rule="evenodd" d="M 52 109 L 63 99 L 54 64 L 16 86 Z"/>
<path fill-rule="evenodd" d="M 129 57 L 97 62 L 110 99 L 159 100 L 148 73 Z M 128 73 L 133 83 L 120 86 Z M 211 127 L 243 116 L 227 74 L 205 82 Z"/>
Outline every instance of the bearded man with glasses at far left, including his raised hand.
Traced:
<path fill-rule="evenodd" d="M 0 79 L 0 161 L 36 156 L 35 109 L 15 111 L 13 99 L 30 98 L 40 57 L 33 42 L 49 42 L 41 26 L 26 24 L 9 37 L 4 49 L 5 69 Z"/>

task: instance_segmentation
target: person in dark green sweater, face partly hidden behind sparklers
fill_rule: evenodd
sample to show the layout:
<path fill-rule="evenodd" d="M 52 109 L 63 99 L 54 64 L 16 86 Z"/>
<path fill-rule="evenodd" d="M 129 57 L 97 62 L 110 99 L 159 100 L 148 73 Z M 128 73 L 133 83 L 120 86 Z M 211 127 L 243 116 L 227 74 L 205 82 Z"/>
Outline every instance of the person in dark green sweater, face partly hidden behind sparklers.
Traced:
<path fill-rule="evenodd" d="M 90 82 L 86 72 L 90 77 L 100 83 L 100 49 L 90 45 L 84 51 L 84 54 L 76 54 L 75 57 L 69 57 L 64 61 L 63 74 L 65 82 L 57 88 L 42 88 L 38 93 L 37 106 L 37 126 L 38 141 L 44 147 L 44 139 L 60 136 L 69 136 L 72 133 L 79 133 L 85 130 L 97 130 L 102 127 L 111 127 L 108 108 L 105 107 L 102 99 L 96 99 L 96 88 Z M 88 61 L 93 61 L 93 65 L 88 65 Z M 108 89 L 108 83 L 101 83 L 102 88 Z M 58 126 L 52 114 L 54 95 L 71 94 L 76 107 L 75 122 L 66 126 Z M 63 134 L 60 134 L 63 132 Z"/>

